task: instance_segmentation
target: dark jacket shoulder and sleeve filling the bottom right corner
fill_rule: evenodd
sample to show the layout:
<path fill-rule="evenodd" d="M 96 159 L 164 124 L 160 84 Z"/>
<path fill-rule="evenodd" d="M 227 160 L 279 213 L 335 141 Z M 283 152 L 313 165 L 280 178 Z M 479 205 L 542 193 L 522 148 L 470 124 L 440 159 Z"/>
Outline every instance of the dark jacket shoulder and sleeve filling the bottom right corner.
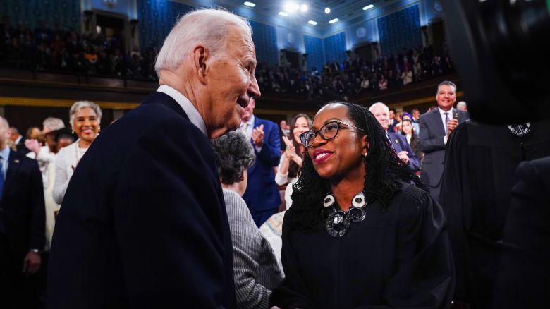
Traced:
<path fill-rule="evenodd" d="M 493 308 L 546 308 L 550 300 L 550 157 L 516 171 Z"/>

